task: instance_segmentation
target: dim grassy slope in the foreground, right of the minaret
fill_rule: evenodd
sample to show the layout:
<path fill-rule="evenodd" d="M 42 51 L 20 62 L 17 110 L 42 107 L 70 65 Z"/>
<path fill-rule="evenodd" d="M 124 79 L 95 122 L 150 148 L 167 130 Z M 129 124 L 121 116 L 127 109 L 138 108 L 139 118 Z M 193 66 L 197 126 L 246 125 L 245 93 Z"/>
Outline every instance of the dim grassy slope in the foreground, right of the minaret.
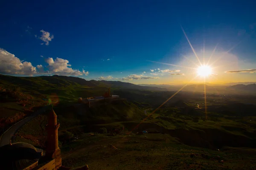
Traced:
<path fill-rule="evenodd" d="M 88 164 L 93 170 L 254 170 L 256 166 L 256 150 L 241 153 L 238 148 L 214 151 L 189 147 L 168 134 L 97 138 L 85 136 L 61 148 L 63 165 Z"/>

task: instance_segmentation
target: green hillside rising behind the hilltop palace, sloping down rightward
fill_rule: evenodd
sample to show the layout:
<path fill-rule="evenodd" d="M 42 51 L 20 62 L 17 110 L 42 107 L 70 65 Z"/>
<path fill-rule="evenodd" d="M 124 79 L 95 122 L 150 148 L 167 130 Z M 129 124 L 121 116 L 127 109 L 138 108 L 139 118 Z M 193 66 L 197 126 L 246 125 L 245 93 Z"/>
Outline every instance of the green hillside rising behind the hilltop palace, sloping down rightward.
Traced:
<path fill-rule="evenodd" d="M 20 88 L 23 93 L 38 97 L 41 97 L 40 95 L 57 95 L 60 100 L 65 101 L 74 101 L 77 97 L 102 96 L 108 91 L 108 88 L 112 88 L 113 91 L 115 89 L 164 90 L 118 81 L 87 81 L 79 77 L 57 75 L 14 77 L 0 74 L 0 87 L 12 91 Z"/>

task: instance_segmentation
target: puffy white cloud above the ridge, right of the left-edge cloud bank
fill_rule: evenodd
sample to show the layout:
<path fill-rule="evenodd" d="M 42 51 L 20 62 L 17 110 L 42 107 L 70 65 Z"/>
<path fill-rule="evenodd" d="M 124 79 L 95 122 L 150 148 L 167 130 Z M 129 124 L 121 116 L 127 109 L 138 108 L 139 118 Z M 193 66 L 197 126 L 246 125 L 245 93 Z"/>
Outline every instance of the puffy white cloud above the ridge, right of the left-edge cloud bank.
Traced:
<path fill-rule="evenodd" d="M 69 61 L 67 59 L 56 58 L 53 60 L 52 58 L 45 59 L 45 62 L 48 63 L 48 68 L 50 73 L 65 75 L 65 76 L 80 76 L 80 75 L 88 75 L 88 71 L 79 71 L 70 68 Z"/>

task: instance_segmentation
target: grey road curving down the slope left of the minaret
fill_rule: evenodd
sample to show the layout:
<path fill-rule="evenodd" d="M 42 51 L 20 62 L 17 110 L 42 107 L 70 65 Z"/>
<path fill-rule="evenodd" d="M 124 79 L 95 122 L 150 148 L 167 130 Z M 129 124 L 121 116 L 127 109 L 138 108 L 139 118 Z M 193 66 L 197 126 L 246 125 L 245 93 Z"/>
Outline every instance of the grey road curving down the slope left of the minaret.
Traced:
<path fill-rule="evenodd" d="M 43 108 L 36 111 L 34 114 L 26 117 L 25 119 L 22 119 L 20 122 L 17 122 L 16 124 L 12 125 L 8 130 L 6 130 L 3 135 L 0 137 L 0 147 L 6 144 L 10 143 L 10 139 L 12 139 L 12 136 L 16 133 L 16 131 L 23 126 L 26 122 L 29 122 L 31 119 L 33 119 L 35 116 L 38 116 L 39 114 L 43 113 L 47 109 L 50 109 L 50 105 L 46 105 Z"/>

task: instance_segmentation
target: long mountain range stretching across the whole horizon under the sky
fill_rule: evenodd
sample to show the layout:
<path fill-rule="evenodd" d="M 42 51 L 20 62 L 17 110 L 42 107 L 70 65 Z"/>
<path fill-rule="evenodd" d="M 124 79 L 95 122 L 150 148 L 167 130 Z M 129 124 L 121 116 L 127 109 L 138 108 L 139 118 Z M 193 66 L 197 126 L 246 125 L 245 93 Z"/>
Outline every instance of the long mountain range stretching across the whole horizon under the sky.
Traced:
<path fill-rule="evenodd" d="M 153 90 L 153 91 L 177 91 L 180 86 L 176 85 L 154 85 L 154 84 L 140 84 L 135 85 L 129 82 L 120 81 L 106 81 L 106 80 L 85 80 L 79 77 L 68 77 L 68 76 L 38 76 L 38 77 L 15 77 L 0 74 L 0 85 L 2 86 L 15 86 L 26 88 L 35 91 L 46 91 L 46 90 L 76 90 L 84 88 L 119 88 L 119 89 L 137 89 L 137 90 Z M 233 85 L 233 86 L 220 86 L 207 83 L 204 84 L 193 84 L 187 85 L 182 91 L 204 91 L 204 87 L 207 92 L 218 91 L 247 91 L 256 92 L 256 84 L 250 85 Z M 82 89 L 81 89 L 82 88 Z"/>

